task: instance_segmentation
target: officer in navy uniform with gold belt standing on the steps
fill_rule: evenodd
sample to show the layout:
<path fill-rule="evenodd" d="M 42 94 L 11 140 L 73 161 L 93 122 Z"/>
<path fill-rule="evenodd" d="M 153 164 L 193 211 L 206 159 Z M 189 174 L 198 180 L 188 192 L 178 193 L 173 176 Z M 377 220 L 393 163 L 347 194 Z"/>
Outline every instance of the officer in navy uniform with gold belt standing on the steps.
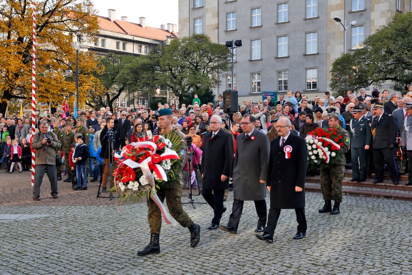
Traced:
<path fill-rule="evenodd" d="M 395 118 L 384 112 L 382 104 L 375 104 L 373 109 L 376 112 L 371 125 L 373 162 L 375 165 L 375 180 L 373 183 L 384 181 L 386 161 L 393 184 L 399 184 L 399 174 L 394 157 L 395 139 L 398 132 Z"/>

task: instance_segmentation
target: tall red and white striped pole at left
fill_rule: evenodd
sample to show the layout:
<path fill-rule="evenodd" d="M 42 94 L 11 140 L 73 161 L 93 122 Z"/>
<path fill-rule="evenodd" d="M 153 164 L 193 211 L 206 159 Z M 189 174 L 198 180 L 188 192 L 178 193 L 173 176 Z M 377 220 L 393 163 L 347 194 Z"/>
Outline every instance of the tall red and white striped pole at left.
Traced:
<path fill-rule="evenodd" d="M 33 0 L 33 65 L 31 70 L 31 138 L 36 134 L 36 46 L 37 46 L 37 18 L 36 0 Z M 29 140 L 31 144 L 32 140 Z M 31 186 L 34 185 L 35 153 L 31 149 Z"/>

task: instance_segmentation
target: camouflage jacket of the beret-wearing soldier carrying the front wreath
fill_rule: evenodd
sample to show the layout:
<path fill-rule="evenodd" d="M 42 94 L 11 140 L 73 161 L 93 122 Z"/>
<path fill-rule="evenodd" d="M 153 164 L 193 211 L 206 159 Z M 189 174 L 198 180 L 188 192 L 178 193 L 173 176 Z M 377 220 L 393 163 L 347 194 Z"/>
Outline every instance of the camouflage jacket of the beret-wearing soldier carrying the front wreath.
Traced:
<path fill-rule="evenodd" d="M 182 171 L 184 164 L 186 163 L 187 146 L 184 136 L 180 135 L 179 132 L 172 130 L 171 137 L 173 138 L 176 135 L 180 137 L 179 149 L 176 151 L 176 153 L 178 153 L 178 155 L 180 156 L 180 160 L 173 164 L 173 167 L 176 167 L 174 169 L 175 179 L 173 181 L 162 182 L 161 184 L 159 184 L 160 189 L 176 189 L 182 188 L 183 186 Z"/>

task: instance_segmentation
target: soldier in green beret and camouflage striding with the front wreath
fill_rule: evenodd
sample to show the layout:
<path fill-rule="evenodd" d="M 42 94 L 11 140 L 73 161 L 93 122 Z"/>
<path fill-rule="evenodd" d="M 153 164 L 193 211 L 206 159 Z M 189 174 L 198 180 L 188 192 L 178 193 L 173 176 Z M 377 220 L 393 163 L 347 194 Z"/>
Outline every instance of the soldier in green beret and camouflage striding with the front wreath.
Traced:
<path fill-rule="evenodd" d="M 156 112 L 156 118 L 158 119 L 159 128 L 164 130 L 165 135 L 172 133 L 173 136 L 179 135 L 178 132 L 172 128 L 172 110 L 161 109 Z M 196 247 L 200 240 L 200 226 L 194 223 L 190 217 L 184 212 L 181 205 L 181 189 L 183 187 L 182 182 L 182 170 L 186 161 L 186 143 L 184 137 L 180 136 L 181 142 L 178 150 L 178 154 L 181 155 L 180 161 L 178 161 L 179 172 L 175 173 L 176 179 L 173 181 L 167 181 L 160 185 L 160 189 L 157 191 L 159 199 L 163 202 L 166 198 L 167 207 L 170 214 L 175 220 L 177 220 L 181 226 L 187 227 L 190 231 L 190 246 Z M 148 200 L 148 221 L 150 225 L 150 243 L 143 250 L 138 251 L 139 256 L 157 254 L 160 252 L 159 235 L 162 225 L 162 217 L 160 209 L 154 203 L 152 199 Z"/>

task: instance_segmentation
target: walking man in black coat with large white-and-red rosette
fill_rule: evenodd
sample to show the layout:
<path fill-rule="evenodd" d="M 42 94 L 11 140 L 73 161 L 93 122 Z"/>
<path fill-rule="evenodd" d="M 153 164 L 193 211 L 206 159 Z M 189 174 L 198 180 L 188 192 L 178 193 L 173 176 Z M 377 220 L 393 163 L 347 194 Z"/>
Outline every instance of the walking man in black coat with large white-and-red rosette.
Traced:
<path fill-rule="evenodd" d="M 305 178 L 308 168 L 308 149 L 305 139 L 291 135 L 291 123 L 281 118 L 276 126 L 279 137 L 270 144 L 266 186 L 270 192 L 270 210 L 267 226 L 259 240 L 273 243 L 273 234 L 281 209 L 295 209 L 298 229 L 293 239 L 306 235 Z M 285 173 L 285 171 L 288 171 Z"/>

